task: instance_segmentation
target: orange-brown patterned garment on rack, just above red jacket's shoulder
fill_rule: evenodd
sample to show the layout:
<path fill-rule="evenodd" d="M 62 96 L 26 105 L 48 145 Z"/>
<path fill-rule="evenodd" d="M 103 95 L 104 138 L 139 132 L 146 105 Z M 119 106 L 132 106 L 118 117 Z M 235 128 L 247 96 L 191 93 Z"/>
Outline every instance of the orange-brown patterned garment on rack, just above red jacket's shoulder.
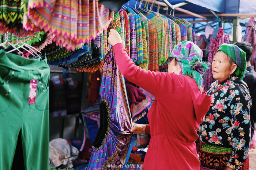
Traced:
<path fill-rule="evenodd" d="M 151 21 L 148 21 L 148 34 L 149 34 L 149 65 L 148 70 L 158 71 L 158 39 L 157 29 Z"/>

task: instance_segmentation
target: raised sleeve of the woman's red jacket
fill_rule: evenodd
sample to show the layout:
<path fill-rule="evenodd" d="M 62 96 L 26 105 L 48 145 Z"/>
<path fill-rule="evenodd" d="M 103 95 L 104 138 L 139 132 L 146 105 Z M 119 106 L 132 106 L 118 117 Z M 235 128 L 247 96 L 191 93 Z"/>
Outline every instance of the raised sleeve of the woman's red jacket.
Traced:
<path fill-rule="evenodd" d="M 179 75 L 139 68 L 129 58 L 123 43 L 114 45 L 113 50 L 120 72 L 130 82 L 150 92 L 156 98 L 164 98 L 176 89 Z"/>

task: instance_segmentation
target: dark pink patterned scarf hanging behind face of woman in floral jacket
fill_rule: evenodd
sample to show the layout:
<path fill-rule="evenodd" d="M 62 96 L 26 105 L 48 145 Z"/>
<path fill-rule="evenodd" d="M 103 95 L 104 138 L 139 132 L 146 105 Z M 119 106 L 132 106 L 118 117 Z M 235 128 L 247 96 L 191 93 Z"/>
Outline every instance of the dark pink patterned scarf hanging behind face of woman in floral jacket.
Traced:
<path fill-rule="evenodd" d="M 219 28 L 217 32 L 217 39 L 213 37 L 214 32 L 211 35 L 211 40 L 210 40 L 210 45 L 209 45 L 209 53 L 208 53 L 208 62 L 210 63 L 210 69 L 206 71 L 206 82 L 205 82 L 205 89 L 208 89 L 213 82 L 213 77 L 212 77 L 212 68 L 211 68 L 211 63 L 213 60 L 213 57 L 216 54 L 216 51 L 219 49 L 221 44 L 227 43 L 229 44 L 229 40 L 227 39 L 227 36 L 224 33 L 223 28 Z"/>

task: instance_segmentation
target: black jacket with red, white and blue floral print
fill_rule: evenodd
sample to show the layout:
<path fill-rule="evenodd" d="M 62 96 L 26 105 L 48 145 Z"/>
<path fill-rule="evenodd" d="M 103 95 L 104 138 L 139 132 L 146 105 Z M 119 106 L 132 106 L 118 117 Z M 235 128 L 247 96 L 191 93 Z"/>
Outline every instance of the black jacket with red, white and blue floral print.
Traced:
<path fill-rule="evenodd" d="M 232 149 L 228 166 L 240 169 L 249 152 L 251 96 L 244 81 L 233 77 L 215 81 L 207 91 L 212 96 L 209 111 L 200 124 L 200 140 Z"/>

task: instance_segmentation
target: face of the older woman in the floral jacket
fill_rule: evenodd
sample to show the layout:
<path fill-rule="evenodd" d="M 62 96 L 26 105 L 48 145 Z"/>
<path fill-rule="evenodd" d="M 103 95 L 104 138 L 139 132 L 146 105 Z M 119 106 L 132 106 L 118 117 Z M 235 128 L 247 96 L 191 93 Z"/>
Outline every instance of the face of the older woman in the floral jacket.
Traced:
<path fill-rule="evenodd" d="M 222 51 L 218 51 L 212 61 L 212 76 L 219 82 L 226 80 L 231 74 L 231 64 L 227 59 L 226 54 Z"/>

